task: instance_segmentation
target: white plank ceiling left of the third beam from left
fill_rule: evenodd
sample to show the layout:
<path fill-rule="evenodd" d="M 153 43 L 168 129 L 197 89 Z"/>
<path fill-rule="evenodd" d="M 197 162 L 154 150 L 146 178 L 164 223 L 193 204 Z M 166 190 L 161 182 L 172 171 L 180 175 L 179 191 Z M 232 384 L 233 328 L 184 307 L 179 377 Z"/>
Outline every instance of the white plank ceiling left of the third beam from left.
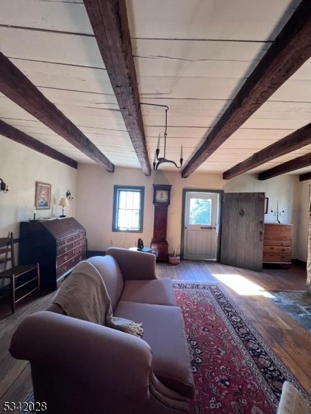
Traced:
<path fill-rule="evenodd" d="M 1 1 L 0 48 L 113 164 L 139 167 L 83 1 Z M 0 119 L 93 162 L 3 95 Z"/>

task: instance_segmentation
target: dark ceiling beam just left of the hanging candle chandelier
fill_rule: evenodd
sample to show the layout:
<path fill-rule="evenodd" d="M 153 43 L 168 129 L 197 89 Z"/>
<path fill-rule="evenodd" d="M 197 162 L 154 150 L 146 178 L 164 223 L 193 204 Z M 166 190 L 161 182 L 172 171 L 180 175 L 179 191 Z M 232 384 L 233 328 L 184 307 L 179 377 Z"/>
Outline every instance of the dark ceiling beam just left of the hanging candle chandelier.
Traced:
<path fill-rule="evenodd" d="M 150 175 L 125 0 L 84 0 L 84 4 L 138 161 Z"/>

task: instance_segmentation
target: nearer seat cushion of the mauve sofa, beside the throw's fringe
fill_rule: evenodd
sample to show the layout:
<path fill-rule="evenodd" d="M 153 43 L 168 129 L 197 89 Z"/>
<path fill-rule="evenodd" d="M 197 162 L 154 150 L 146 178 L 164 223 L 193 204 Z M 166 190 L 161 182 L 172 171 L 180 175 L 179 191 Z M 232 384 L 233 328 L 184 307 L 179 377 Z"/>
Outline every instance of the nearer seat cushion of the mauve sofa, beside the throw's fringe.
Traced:
<path fill-rule="evenodd" d="M 180 308 L 120 301 L 114 316 L 142 322 L 142 339 L 153 353 L 153 373 L 164 385 L 193 397 L 194 379 Z"/>

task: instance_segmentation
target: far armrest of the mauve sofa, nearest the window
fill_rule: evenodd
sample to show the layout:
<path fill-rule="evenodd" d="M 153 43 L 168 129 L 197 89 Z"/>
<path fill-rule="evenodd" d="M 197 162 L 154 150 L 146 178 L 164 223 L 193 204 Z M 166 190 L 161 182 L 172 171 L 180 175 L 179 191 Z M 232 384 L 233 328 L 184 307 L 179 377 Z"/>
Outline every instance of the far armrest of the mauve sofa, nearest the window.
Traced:
<path fill-rule="evenodd" d="M 156 256 L 152 253 L 110 247 L 106 255 L 117 261 L 124 280 L 158 279 L 156 276 Z"/>

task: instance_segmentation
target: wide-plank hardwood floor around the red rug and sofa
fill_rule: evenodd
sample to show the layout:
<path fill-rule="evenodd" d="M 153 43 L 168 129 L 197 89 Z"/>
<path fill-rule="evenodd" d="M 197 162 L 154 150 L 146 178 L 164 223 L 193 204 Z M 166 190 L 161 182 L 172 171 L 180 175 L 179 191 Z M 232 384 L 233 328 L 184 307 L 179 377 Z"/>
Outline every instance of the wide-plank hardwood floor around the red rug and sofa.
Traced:
<path fill-rule="evenodd" d="M 178 266 L 160 263 L 157 269 L 158 277 L 220 283 L 276 355 L 311 393 L 311 335 L 283 313 L 269 299 L 267 292 L 304 290 L 306 276 L 303 268 L 294 265 L 290 270 L 276 268 L 256 273 L 216 262 L 185 260 Z M 12 334 L 24 317 L 46 309 L 54 296 L 55 292 L 30 297 L 17 306 L 14 315 L 10 315 L 8 306 L 0 306 L 0 412 L 3 402 L 22 402 L 32 388 L 28 363 L 12 358 L 8 352 Z"/>

